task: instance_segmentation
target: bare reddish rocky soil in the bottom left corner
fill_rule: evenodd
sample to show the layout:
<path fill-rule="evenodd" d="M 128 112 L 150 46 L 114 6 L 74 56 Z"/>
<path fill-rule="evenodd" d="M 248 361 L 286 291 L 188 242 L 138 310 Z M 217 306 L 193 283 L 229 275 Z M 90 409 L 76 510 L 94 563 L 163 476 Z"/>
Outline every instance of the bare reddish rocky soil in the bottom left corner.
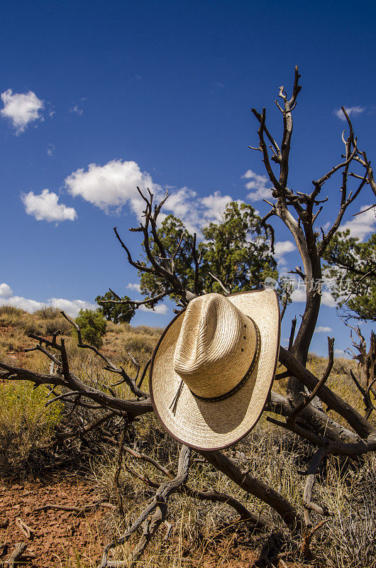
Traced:
<path fill-rule="evenodd" d="M 20 542 L 19 561 L 30 568 L 90 566 L 101 556 L 105 508 L 80 513 L 96 502 L 95 489 L 69 472 L 43 481 L 0 485 L 0 566 Z M 57 510 L 50 506 L 73 507 Z M 80 563 L 79 563 L 80 562 Z"/>

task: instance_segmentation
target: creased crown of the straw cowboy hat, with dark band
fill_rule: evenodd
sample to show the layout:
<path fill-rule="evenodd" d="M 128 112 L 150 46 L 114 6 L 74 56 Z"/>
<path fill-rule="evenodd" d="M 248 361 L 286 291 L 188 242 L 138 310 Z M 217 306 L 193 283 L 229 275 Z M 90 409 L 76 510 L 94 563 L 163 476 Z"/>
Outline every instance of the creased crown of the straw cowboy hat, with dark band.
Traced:
<path fill-rule="evenodd" d="M 220 294 L 195 298 L 184 313 L 174 370 L 199 397 L 230 392 L 248 372 L 257 350 L 255 323 Z"/>

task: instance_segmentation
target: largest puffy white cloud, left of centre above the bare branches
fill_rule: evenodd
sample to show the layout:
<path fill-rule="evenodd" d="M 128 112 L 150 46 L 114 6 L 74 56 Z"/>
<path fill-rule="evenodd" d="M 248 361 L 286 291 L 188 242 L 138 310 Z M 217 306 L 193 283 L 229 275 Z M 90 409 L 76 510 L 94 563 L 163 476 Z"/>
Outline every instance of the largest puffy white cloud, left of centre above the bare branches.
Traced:
<path fill-rule="evenodd" d="M 65 185 L 74 197 L 81 196 L 106 213 L 128 205 L 138 216 L 145 203 L 136 187 L 144 192 L 149 187 L 153 193 L 162 189 L 150 174 L 141 172 L 136 162 L 121 160 L 111 160 L 105 165 L 89 164 L 87 170 L 79 168 L 67 177 Z"/>

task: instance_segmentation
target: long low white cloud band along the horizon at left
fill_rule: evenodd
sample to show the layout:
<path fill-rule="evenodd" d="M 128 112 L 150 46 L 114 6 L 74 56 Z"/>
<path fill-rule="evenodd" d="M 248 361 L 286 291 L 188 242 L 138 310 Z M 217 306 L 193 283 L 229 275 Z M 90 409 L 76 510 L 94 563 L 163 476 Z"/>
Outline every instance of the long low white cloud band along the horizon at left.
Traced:
<path fill-rule="evenodd" d="M 40 310 L 45 306 L 57 307 L 72 317 L 76 317 L 79 310 L 95 310 L 97 307 L 95 304 L 84 300 L 65 300 L 61 297 L 51 297 L 46 302 L 38 302 L 38 300 L 32 300 L 28 297 L 13 296 L 11 288 L 5 283 L 0 284 L 0 305 L 19 307 L 26 312 L 35 312 L 35 310 Z"/>

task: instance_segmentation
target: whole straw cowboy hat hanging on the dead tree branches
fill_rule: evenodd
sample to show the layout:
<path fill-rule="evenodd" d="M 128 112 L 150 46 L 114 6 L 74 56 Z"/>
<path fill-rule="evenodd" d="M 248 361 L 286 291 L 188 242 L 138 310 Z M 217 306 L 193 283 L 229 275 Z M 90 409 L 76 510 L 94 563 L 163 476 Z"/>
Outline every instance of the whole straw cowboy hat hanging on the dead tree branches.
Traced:
<path fill-rule="evenodd" d="M 279 346 L 275 290 L 195 298 L 153 354 L 150 395 L 160 422 L 195 449 L 238 442 L 262 413 Z"/>

